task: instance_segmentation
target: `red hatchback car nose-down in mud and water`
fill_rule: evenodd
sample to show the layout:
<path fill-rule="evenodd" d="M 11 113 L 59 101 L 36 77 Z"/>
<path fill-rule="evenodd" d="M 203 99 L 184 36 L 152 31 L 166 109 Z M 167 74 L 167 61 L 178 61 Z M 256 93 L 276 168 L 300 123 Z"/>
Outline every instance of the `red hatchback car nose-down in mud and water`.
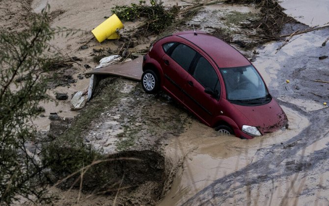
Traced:
<path fill-rule="evenodd" d="M 142 87 L 160 89 L 209 127 L 251 139 L 287 125 L 250 61 L 205 32 L 183 31 L 153 44 L 143 59 Z"/>

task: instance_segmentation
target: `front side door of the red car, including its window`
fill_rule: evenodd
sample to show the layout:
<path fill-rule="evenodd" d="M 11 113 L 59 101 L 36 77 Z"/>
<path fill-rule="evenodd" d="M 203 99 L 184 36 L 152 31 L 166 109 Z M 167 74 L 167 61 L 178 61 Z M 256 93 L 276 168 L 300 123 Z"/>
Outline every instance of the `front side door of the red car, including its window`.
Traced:
<path fill-rule="evenodd" d="M 216 95 L 205 93 L 205 89 Z M 191 75 L 187 77 L 185 91 L 189 99 L 186 104 L 209 126 L 219 115 L 220 90 L 218 73 L 206 58 L 198 55 Z"/>

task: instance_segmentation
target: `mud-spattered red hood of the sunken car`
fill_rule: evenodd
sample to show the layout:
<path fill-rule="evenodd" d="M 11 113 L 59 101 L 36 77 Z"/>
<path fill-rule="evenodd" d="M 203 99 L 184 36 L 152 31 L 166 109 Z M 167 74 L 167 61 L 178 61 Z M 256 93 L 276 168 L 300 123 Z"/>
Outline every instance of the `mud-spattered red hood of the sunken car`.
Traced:
<path fill-rule="evenodd" d="M 286 114 L 273 98 L 264 105 L 234 106 L 246 116 L 252 124 L 250 126 L 257 127 L 262 134 L 282 128 L 288 122 Z"/>

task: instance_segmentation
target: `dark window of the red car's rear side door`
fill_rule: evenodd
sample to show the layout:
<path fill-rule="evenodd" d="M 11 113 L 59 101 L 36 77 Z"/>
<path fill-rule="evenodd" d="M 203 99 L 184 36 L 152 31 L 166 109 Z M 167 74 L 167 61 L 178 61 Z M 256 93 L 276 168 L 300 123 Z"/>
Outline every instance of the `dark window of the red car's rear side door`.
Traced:
<path fill-rule="evenodd" d="M 188 71 L 195 54 L 196 52 L 192 48 L 184 44 L 179 44 L 172 51 L 170 57 Z"/>

